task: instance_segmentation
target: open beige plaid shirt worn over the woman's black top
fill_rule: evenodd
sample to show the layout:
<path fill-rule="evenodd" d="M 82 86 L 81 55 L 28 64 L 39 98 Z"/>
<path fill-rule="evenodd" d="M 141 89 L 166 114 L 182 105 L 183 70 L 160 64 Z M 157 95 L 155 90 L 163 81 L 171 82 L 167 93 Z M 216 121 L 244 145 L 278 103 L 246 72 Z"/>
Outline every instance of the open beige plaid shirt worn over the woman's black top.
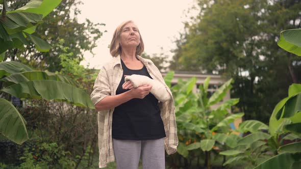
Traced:
<path fill-rule="evenodd" d="M 166 153 L 173 154 L 177 152 L 179 143 L 177 135 L 177 124 L 175 123 L 174 101 L 170 89 L 154 63 L 148 59 L 143 59 L 137 55 L 143 65 L 145 65 L 148 73 L 154 80 L 161 82 L 168 93 L 171 95 L 171 100 L 159 102 L 161 110 L 161 118 L 164 124 L 166 137 L 164 137 L 164 147 Z M 116 90 L 122 77 L 122 67 L 120 56 L 114 57 L 108 64 L 103 66 L 95 80 L 91 100 L 96 105 L 99 101 L 108 95 L 116 95 Z M 99 148 L 99 168 L 107 166 L 107 163 L 115 161 L 112 139 L 112 119 L 113 109 L 98 111 L 98 148 Z"/>

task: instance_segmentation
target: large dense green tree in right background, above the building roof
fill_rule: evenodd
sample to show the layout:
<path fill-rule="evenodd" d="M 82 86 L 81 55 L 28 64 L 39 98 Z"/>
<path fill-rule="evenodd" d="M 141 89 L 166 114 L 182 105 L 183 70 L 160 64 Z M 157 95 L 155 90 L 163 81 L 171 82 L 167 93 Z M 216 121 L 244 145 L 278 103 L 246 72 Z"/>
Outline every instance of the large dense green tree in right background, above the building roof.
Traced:
<path fill-rule="evenodd" d="M 232 97 L 246 119 L 268 122 L 273 106 L 293 81 L 301 60 L 274 43 L 281 30 L 299 26 L 300 1 L 203 1 L 177 40 L 171 70 L 233 77 Z M 173 69 L 172 69 L 173 68 Z M 288 78 L 290 77 L 290 78 Z M 279 90 L 283 89 L 283 90 Z"/>

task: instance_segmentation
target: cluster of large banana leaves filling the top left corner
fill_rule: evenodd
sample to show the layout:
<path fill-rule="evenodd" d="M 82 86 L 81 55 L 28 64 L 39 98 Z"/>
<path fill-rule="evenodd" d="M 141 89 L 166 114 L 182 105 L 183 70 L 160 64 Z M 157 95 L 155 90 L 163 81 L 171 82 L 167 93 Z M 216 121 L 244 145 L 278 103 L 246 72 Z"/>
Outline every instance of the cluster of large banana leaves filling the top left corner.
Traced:
<path fill-rule="evenodd" d="M 42 18 L 51 12 L 61 0 L 32 0 L 31 3 L 14 11 L 8 11 L 7 1 L 3 1 L 0 23 L 0 53 L 7 49 L 23 48 L 30 40 L 38 51 L 48 51 L 50 46 L 42 39 L 31 35 Z M 27 39 L 26 39 L 27 38 Z"/>

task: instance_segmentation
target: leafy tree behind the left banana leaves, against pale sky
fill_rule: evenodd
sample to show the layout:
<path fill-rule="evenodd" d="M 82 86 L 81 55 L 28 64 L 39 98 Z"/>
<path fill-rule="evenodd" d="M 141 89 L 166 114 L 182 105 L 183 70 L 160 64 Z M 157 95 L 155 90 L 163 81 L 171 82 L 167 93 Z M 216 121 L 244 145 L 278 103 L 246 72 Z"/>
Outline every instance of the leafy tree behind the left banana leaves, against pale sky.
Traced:
<path fill-rule="evenodd" d="M 29 2 L 11 0 L 10 9 L 16 9 Z M 56 9 L 47 15 L 43 22 L 36 28 L 35 35 L 46 39 L 49 44 L 58 44 L 59 39 L 65 40 L 65 46 L 73 52 L 71 59 L 84 59 L 84 52 L 96 47 L 96 42 L 103 33 L 99 31 L 99 26 L 103 23 L 93 23 L 86 19 L 84 23 L 79 23 L 77 16 L 81 14 L 78 6 L 83 4 L 78 0 L 63 0 Z M 55 72 L 60 71 L 59 54 L 63 53 L 61 48 L 53 46 L 49 52 L 39 52 L 34 46 L 27 46 L 22 49 L 10 49 L 6 55 L 12 61 L 21 61 L 39 70 Z"/>

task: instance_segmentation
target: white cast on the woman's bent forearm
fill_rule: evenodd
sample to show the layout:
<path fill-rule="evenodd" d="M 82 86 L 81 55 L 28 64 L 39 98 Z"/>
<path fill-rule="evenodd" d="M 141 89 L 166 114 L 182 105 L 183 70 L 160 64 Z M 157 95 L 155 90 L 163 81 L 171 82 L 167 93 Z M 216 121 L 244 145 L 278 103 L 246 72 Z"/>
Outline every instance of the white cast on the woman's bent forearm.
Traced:
<path fill-rule="evenodd" d="M 165 86 L 157 80 L 151 79 L 147 76 L 137 75 L 137 74 L 126 76 L 124 80 L 131 81 L 134 88 L 138 88 L 139 86 L 142 85 L 152 86 L 152 89 L 150 89 L 150 93 L 152 93 L 161 102 L 165 102 L 171 99 L 171 96 L 167 92 Z"/>

